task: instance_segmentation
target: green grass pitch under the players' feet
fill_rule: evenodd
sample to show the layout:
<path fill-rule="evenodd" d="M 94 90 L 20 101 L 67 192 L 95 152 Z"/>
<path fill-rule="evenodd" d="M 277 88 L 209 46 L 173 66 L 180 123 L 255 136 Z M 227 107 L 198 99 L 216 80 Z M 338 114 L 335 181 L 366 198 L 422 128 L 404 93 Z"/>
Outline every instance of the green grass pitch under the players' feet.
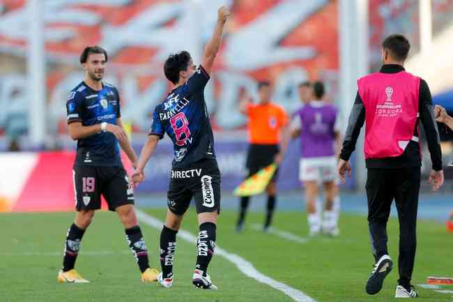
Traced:
<path fill-rule="evenodd" d="M 165 209 L 146 209 L 164 219 Z M 196 302 L 290 302 L 289 296 L 248 278 L 234 264 L 216 256 L 210 264 L 217 292 L 193 289 L 196 248 L 178 239 L 175 282 L 171 289 L 142 284 L 139 270 L 125 242 L 116 214 L 98 212 L 85 233 L 76 269 L 89 284 L 59 284 L 63 241 L 74 213 L 3 213 L 0 215 L 0 302 L 54 301 L 196 301 Z M 383 290 L 368 296 L 364 284 L 372 269 L 367 222 L 363 216 L 341 216 L 341 234 L 335 239 L 320 236 L 306 243 L 264 234 L 253 226 L 263 221 L 262 213 L 249 213 L 243 233 L 234 233 L 236 213 L 222 211 L 217 227 L 217 244 L 252 262 L 256 269 L 311 296 L 318 302 L 394 301 L 398 278 L 398 225 L 389 222 L 390 256 L 394 270 Z M 298 236 L 307 234 L 304 213 L 277 213 L 274 226 Z M 153 267 L 158 262 L 160 229 L 141 223 Z M 413 284 L 426 282 L 429 275 L 453 275 L 453 234 L 439 222 L 419 220 L 418 245 Z M 183 229 L 197 234 L 193 209 Z M 419 302 L 452 301 L 453 294 L 417 287 Z M 453 290 L 453 287 L 443 287 Z"/>

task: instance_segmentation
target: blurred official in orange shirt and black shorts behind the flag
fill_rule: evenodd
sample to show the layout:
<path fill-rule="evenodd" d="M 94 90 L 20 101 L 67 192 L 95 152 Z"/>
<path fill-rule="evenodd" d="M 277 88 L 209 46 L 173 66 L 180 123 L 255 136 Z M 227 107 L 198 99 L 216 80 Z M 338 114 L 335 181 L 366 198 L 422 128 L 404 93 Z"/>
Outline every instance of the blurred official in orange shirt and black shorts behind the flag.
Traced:
<path fill-rule="evenodd" d="M 247 153 L 246 167 L 247 178 L 259 172 L 272 163 L 279 165 L 282 162 L 286 146 L 289 141 L 288 117 L 279 105 L 270 101 L 271 88 L 269 82 L 258 83 L 259 103 L 253 104 L 251 98 L 245 96 L 240 100 L 239 110 L 247 115 L 249 122 L 249 151 Z M 279 140 L 282 138 L 282 149 L 279 149 Z M 267 231 L 272 222 L 272 216 L 277 202 L 277 174 L 268 183 L 266 194 L 268 206 L 263 231 Z M 249 206 L 250 197 L 243 196 L 240 199 L 240 211 L 236 232 L 244 227 L 245 213 Z"/>

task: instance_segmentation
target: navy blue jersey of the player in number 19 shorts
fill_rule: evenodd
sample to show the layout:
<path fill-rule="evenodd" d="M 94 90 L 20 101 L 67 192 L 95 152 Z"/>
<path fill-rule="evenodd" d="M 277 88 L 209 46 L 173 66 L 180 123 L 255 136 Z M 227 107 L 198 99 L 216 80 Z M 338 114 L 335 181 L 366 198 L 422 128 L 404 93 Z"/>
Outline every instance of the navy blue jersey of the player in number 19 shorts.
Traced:
<path fill-rule="evenodd" d="M 68 123 L 80 122 L 82 126 L 96 123 L 113 123 L 120 114 L 120 98 L 113 85 L 102 84 L 99 91 L 91 89 L 85 82 L 72 89 L 66 101 Z M 77 166 L 123 167 L 120 146 L 115 135 L 100 132 L 77 141 Z"/>

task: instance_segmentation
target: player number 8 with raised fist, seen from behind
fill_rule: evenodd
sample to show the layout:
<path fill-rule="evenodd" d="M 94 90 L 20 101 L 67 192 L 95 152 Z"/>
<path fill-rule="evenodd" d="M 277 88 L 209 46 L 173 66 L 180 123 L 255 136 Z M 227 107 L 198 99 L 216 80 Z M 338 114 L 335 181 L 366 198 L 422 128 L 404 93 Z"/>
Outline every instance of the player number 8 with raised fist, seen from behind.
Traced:
<path fill-rule="evenodd" d="M 174 160 L 167 196 L 167 218 L 160 234 L 162 273 L 158 276 L 158 282 L 163 287 L 173 285 L 176 233 L 194 197 L 200 232 L 192 284 L 202 289 L 217 289 L 207 270 L 214 254 L 216 222 L 220 213 L 220 171 L 215 159 L 213 130 L 204 100 L 204 88 L 222 43 L 229 14 L 226 6 L 219 9 L 213 37 L 204 49 L 200 66 L 195 66 L 190 54 L 185 51 L 171 54 L 165 61 L 164 73 L 174 84 L 174 89 L 163 103 L 155 107 L 148 140 L 132 175 L 135 185 L 144 180 L 144 167 L 159 139 L 167 133 L 174 144 Z"/>

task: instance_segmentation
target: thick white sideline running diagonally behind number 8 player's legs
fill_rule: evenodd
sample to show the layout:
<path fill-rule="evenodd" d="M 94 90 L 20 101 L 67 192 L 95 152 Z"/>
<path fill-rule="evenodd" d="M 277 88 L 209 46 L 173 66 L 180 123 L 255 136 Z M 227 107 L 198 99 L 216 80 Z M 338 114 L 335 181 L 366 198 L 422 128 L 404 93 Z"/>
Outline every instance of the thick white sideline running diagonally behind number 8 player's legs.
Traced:
<path fill-rule="evenodd" d="M 137 218 L 139 218 L 139 220 L 141 222 L 144 222 L 146 225 L 154 227 L 155 229 L 158 230 L 162 229 L 162 225 L 164 224 L 164 222 L 158 220 L 157 218 L 154 218 L 153 216 L 148 215 L 147 213 L 144 213 L 143 211 L 139 211 L 138 209 L 135 209 L 135 213 L 137 214 Z M 181 239 L 188 241 L 190 243 L 197 243 L 197 237 L 183 229 L 179 230 L 178 236 Z M 253 278 L 258 282 L 264 283 L 272 288 L 284 292 L 284 294 L 291 297 L 291 299 L 293 299 L 294 301 L 316 302 L 316 300 L 307 296 L 303 292 L 300 292 L 300 290 L 290 287 L 289 285 L 286 285 L 282 282 L 278 282 L 277 280 L 274 280 L 268 277 L 267 275 L 260 273 L 254 268 L 252 263 L 248 262 L 243 257 L 240 257 L 231 252 L 227 252 L 226 250 L 219 248 L 219 246 L 216 246 L 215 253 L 221 257 L 224 257 L 229 262 L 235 264 L 238 267 L 239 271 L 241 271 L 248 277 Z"/>

